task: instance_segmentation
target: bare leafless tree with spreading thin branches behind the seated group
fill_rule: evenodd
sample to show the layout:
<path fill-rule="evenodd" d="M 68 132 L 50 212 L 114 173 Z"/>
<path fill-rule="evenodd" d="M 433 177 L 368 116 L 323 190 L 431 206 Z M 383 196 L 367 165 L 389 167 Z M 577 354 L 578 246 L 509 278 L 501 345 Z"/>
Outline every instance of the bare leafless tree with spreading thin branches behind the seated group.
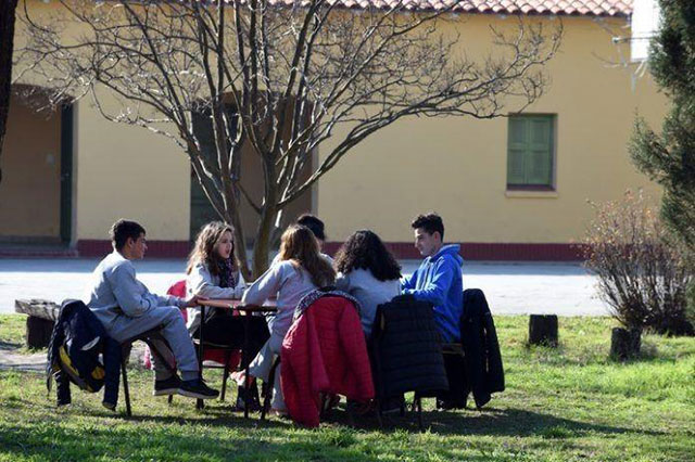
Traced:
<path fill-rule="evenodd" d="M 497 117 L 541 97 L 559 22 L 545 30 L 543 21 L 519 16 L 511 34 L 491 28 L 494 51 L 476 61 L 455 28 L 441 27 L 462 21 L 450 13 L 466 1 L 417 10 L 419 2 L 394 0 L 357 11 L 340 0 L 61 0 L 48 18 L 25 9 L 20 61 L 23 77 L 42 80 L 55 98 L 91 94 L 108 119 L 174 140 L 236 228 L 244 274 L 257 277 L 282 210 L 372 133 L 413 116 Z M 119 107 L 104 103 L 104 88 Z M 212 125 L 212 156 L 195 114 Z M 244 145 L 263 163 L 258 201 L 241 184 Z M 241 201 L 257 213 L 252 268 Z"/>

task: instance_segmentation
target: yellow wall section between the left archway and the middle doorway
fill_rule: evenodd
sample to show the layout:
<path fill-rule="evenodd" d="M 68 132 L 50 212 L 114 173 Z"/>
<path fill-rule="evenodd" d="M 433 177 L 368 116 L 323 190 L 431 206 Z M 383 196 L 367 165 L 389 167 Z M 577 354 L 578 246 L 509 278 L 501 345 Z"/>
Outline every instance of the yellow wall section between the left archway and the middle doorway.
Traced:
<path fill-rule="evenodd" d="M 188 241 L 190 166 L 170 140 L 108 121 L 84 99 L 77 110 L 77 239 L 109 239 L 118 218 L 150 240 Z"/>

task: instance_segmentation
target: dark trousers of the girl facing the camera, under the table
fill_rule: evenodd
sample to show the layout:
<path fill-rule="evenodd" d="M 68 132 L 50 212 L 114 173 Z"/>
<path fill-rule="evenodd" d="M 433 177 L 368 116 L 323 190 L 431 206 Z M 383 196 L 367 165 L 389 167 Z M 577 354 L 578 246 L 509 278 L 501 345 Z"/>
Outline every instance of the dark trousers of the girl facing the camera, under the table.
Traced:
<path fill-rule="evenodd" d="M 245 346 L 245 316 L 231 316 L 229 313 L 215 313 L 205 321 L 203 342 L 217 345 L 224 348 L 242 349 Z M 263 345 L 270 338 L 268 324 L 265 318 L 252 316 L 249 322 L 249 347 L 241 358 L 241 368 L 245 368 L 249 362 L 256 357 Z M 194 338 L 200 338 L 200 330 L 193 334 Z M 211 347 L 213 347 L 211 345 Z"/>

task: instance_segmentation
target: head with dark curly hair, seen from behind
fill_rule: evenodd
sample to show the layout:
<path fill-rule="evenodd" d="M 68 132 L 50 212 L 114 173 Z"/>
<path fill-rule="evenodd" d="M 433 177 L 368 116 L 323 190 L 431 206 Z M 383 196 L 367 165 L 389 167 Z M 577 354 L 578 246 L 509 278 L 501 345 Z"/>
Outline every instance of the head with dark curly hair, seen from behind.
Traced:
<path fill-rule="evenodd" d="M 401 266 L 379 236 L 369 230 L 356 231 L 348 238 L 338 251 L 333 265 L 343 274 L 366 269 L 379 281 L 401 278 Z"/>

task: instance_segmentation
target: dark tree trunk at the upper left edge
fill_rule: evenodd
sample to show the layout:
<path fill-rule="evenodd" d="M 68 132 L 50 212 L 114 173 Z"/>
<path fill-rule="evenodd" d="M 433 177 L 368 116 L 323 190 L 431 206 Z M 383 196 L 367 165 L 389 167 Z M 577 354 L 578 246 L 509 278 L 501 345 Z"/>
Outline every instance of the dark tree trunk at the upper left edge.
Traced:
<path fill-rule="evenodd" d="M 17 0 L 2 0 L 0 2 L 0 161 L 2 159 L 2 143 L 4 142 L 5 125 L 10 111 L 16 7 Z M 0 182 L 2 182 L 1 164 Z"/>

